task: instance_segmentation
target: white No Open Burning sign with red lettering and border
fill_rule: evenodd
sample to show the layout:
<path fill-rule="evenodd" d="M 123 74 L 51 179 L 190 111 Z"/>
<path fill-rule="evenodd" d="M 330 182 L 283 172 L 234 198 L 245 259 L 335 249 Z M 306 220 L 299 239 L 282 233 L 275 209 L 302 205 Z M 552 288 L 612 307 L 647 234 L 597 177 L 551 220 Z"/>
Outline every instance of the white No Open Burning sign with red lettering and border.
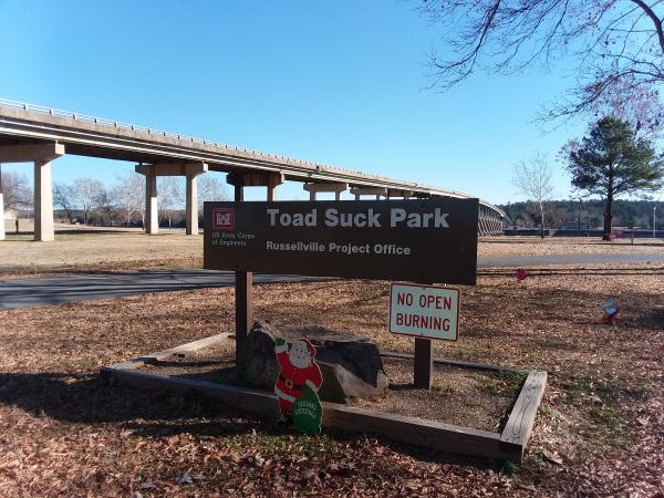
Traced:
<path fill-rule="evenodd" d="M 449 287 L 393 283 L 390 287 L 390 332 L 456 341 L 459 294 L 458 289 Z"/>

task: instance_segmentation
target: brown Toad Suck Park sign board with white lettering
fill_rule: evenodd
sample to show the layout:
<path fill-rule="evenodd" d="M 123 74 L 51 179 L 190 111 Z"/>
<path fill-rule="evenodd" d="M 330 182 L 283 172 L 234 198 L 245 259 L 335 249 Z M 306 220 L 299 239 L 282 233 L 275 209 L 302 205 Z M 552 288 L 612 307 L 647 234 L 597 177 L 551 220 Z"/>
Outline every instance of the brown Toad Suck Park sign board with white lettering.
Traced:
<path fill-rule="evenodd" d="M 475 284 L 477 199 L 205 203 L 205 268 Z"/>

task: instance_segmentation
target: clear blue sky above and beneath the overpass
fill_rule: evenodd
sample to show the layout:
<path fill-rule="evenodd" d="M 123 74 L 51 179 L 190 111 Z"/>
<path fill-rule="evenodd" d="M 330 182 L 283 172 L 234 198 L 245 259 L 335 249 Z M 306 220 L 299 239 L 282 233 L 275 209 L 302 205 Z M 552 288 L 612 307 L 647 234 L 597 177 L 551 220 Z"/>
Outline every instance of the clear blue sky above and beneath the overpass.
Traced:
<path fill-rule="evenodd" d="M 519 200 L 512 165 L 553 162 L 582 123 L 536 112 L 573 82 L 538 69 L 426 90 L 440 32 L 401 0 L 0 0 L 0 96 Z M 12 165 L 31 177 L 29 165 Z M 55 181 L 132 164 L 64 156 Z M 220 177 L 221 178 L 221 177 Z M 557 166 L 558 197 L 569 179 Z M 252 198 L 262 198 L 258 190 Z M 281 199 L 307 198 L 299 184 Z"/>

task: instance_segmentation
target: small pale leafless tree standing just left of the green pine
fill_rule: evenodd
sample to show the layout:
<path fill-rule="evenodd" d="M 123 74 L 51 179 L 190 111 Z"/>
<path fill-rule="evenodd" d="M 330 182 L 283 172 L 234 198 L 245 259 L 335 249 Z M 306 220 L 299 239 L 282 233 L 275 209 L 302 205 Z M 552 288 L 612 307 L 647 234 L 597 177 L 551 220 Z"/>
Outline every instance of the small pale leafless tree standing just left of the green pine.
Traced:
<path fill-rule="evenodd" d="M 552 175 L 553 172 L 547 157 L 539 152 L 528 163 L 525 160 L 517 163 L 513 169 L 512 184 L 519 189 L 520 195 L 532 200 L 539 209 L 542 239 L 544 238 L 546 204 L 553 196 Z"/>

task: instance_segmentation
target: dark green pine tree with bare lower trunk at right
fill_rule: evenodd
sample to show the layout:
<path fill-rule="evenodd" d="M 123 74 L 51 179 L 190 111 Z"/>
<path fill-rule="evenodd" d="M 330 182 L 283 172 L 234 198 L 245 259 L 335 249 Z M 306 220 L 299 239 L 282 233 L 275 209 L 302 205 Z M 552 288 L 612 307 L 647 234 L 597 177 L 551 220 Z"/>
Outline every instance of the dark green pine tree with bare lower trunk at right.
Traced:
<path fill-rule="evenodd" d="M 636 139 L 630 125 L 614 117 L 598 121 L 580 144 L 567 151 L 572 185 L 605 199 L 603 239 L 611 239 L 613 200 L 621 195 L 654 191 L 664 184 L 664 165 L 651 142 Z"/>

